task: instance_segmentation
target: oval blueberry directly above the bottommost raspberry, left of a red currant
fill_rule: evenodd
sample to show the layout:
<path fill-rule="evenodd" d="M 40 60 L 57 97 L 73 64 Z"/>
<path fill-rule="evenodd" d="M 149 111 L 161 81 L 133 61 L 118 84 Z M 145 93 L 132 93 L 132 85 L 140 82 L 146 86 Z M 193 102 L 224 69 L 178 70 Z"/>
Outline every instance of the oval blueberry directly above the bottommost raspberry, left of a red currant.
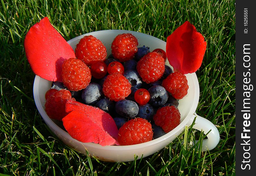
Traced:
<path fill-rule="evenodd" d="M 139 106 L 131 100 L 120 100 L 116 103 L 116 112 L 122 117 L 132 118 L 137 116 Z"/>

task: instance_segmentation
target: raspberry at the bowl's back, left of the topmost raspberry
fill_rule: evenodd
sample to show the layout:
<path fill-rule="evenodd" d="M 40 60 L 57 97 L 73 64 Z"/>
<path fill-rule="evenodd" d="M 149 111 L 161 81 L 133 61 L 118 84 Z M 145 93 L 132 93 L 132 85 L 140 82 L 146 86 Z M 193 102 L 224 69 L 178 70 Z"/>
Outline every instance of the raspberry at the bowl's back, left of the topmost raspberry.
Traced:
<path fill-rule="evenodd" d="M 75 55 L 86 65 L 91 65 L 94 60 L 104 61 L 107 57 L 107 49 L 99 39 L 86 35 L 77 44 Z"/>

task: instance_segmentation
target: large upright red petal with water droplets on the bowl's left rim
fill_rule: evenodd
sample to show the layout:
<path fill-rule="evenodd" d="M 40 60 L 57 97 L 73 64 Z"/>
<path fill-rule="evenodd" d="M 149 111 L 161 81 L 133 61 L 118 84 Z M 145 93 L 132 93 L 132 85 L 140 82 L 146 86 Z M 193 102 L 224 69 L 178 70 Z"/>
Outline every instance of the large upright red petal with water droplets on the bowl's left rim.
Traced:
<path fill-rule="evenodd" d="M 72 47 L 54 29 L 47 17 L 29 29 L 24 47 L 33 72 L 48 81 L 62 82 L 63 61 L 76 57 Z"/>

